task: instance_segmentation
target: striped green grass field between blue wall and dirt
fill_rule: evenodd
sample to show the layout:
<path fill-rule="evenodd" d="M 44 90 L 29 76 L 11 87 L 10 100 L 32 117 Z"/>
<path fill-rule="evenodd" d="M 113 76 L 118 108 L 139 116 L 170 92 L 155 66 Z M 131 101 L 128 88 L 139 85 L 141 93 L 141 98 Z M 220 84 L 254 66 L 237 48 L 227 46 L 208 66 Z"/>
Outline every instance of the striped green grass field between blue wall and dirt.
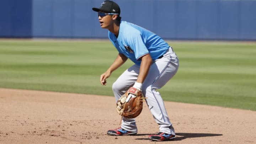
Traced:
<path fill-rule="evenodd" d="M 164 100 L 256 111 L 256 43 L 168 43 L 180 68 L 159 90 Z M 0 87 L 111 96 L 114 80 L 133 64 L 101 86 L 116 55 L 109 41 L 0 40 Z"/>

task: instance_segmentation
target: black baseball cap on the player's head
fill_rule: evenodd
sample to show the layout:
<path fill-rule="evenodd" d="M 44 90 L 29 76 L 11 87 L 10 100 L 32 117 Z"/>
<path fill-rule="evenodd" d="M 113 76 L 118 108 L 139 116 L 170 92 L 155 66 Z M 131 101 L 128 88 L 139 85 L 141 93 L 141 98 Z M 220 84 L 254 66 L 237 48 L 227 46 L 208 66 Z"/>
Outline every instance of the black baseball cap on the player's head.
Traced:
<path fill-rule="evenodd" d="M 100 8 L 93 7 L 92 10 L 98 12 L 98 11 L 104 11 L 104 12 L 110 12 L 119 14 L 121 13 L 120 7 L 116 2 L 113 2 L 111 0 L 105 0 L 101 3 Z"/>

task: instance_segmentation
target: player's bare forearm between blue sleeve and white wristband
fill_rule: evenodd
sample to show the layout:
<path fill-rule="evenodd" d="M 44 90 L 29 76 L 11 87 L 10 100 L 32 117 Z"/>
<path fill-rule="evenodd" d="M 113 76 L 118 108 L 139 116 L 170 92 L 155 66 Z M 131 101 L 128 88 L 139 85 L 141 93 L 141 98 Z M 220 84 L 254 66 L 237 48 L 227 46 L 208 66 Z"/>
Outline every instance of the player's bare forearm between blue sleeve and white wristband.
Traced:
<path fill-rule="evenodd" d="M 142 62 L 140 64 L 139 75 L 138 75 L 138 79 L 136 82 L 142 84 L 144 82 L 144 80 L 146 79 L 146 76 L 148 75 L 148 71 L 149 71 L 150 65 L 152 63 L 152 58 L 151 58 L 150 54 L 146 54 L 141 59 L 142 59 Z"/>

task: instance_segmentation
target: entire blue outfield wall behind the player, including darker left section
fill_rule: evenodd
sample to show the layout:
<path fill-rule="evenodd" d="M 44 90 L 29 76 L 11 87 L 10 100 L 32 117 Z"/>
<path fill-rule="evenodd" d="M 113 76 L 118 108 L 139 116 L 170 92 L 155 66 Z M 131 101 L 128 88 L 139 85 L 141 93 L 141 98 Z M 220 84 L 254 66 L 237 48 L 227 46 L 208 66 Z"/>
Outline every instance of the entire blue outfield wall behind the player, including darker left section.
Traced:
<path fill-rule="evenodd" d="M 1 0 L 0 37 L 107 38 L 103 0 Z M 256 0 L 115 0 L 122 20 L 165 39 L 256 40 Z"/>

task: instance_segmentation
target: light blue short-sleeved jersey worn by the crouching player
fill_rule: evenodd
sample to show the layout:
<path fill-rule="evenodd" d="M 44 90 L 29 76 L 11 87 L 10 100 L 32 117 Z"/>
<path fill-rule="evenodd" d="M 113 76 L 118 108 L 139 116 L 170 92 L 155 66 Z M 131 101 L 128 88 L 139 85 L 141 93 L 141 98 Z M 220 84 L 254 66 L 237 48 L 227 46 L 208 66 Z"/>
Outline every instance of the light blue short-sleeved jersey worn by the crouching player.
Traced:
<path fill-rule="evenodd" d="M 161 37 L 143 27 L 121 21 L 118 38 L 108 31 L 108 38 L 119 53 L 140 65 L 141 57 L 150 54 L 152 60 L 165 54 L 170 47 Z"/>

